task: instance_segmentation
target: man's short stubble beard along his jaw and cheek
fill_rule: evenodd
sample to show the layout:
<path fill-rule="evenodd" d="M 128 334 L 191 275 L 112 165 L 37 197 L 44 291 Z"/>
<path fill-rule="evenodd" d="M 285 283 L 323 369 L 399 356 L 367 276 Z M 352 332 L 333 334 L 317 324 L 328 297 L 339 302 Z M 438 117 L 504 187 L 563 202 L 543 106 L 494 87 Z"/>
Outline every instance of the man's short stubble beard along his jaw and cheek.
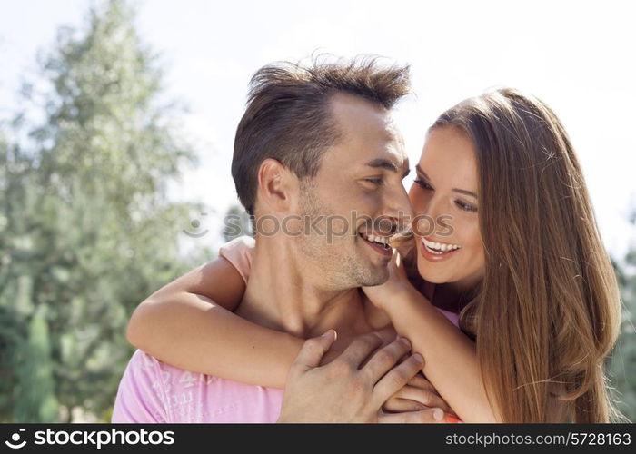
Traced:
<path fill-rule="evenodd" d="M 296 240 L 298 250 L 303 255 L 303 260 L 313 262 L 318 270 L 322 271 L 321 279 L 333 290 L 347 290 L 363 286 L 380 285 L 389 278 L 389 271 L 386 266 L 373 265 L 367 254 L 362 251 L 365 247 L 363 239 L 357 235 L 356 230 L 352 232 L 352 226 L 348 226 L 348 232 L 336 235 L 333 234 L 331 242 L 326 232 L 327 222 L 330 216 L 337 213 L 319 200 L 314 186 L 311 184 L 301 185 L 301 216 L 303 220 L 310 219 L 310 224 L 319 217 L 323 217 L 318 222 L 318 230 L 323 234 L 311 230 L 299 235 Z M 351 222 L 351 213 L 342 215 Z M 306 225 L 306 224 L 305 224 Z M 337 229 L 342 231 L 342 229 Z"/>

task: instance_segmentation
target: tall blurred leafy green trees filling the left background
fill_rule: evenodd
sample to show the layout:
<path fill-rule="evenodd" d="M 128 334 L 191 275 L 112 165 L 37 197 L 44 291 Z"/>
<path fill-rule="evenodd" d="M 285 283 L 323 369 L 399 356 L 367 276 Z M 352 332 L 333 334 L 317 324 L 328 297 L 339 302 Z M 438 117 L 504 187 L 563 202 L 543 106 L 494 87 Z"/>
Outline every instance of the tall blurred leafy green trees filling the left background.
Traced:
<path fill-rule="evenodd" d="M 60 30 L 49 89 L 25 91 L 45 121 L 24 115 L 15 137 L 29 140 L 0 142 L 2 419 L 55 420 L 55 402 L 106 418 L 130 312 L 184 271 L 188 207 L 166 184 L 193 153 L 162 77 L 134 10 L 99 4 L 83 30 Z"/>

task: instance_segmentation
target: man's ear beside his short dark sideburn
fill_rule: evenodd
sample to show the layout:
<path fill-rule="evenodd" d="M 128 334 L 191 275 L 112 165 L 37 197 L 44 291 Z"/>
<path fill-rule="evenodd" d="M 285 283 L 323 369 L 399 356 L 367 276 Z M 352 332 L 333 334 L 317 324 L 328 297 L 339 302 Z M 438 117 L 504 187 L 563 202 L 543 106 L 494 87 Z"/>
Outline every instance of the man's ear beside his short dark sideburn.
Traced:
<path fill-rule="evenodd" d="M 296 178 L 280 161 L 267 158 L 258 169 L 258 200 L 274 212 L 288 212 Z"/>

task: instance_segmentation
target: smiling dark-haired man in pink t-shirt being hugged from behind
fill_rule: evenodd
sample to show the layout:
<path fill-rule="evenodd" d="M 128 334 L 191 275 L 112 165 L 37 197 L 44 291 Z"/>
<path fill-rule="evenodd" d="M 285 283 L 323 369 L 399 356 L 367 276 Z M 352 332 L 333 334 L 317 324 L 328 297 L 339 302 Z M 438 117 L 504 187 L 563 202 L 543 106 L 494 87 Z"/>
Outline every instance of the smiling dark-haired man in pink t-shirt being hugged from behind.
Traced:
<path fill-rule="evenodd" d="M 282 421 L 432 419 L 427 410 L 383 413 L 423 360 L 399 362 L 410 350 L 405 340 L 382 347 L 360 292 L 388 279 L 386 239 L 411 212 L 402 185 L 408 160 L 390 114 L 408 92 L 406 68 L 373 60 L 273 64 L 253 76 L 232 163 L 256 227 L 236 313 L 317 338 L 294 364 L 283 411 L 281 390 L 204 379 L 137 351 L 114 422 L 273 422 L 279 413 Z M 332 344 L 343 354 L 318 367 Z"/>

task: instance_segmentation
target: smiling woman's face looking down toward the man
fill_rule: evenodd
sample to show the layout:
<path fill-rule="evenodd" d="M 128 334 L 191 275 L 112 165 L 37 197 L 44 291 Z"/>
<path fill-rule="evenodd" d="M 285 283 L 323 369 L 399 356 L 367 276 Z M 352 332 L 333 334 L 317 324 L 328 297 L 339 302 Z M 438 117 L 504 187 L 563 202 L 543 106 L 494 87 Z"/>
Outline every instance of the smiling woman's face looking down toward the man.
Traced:
<path fill-rule="evenodd" d="M 424 143 L 409 198 L 422 219 L 414 231 L 417 267 L 425 281 L 463 289 L 482 279 L 475 155 L 471 140 L 454 127 L 432 129 Z"/>

